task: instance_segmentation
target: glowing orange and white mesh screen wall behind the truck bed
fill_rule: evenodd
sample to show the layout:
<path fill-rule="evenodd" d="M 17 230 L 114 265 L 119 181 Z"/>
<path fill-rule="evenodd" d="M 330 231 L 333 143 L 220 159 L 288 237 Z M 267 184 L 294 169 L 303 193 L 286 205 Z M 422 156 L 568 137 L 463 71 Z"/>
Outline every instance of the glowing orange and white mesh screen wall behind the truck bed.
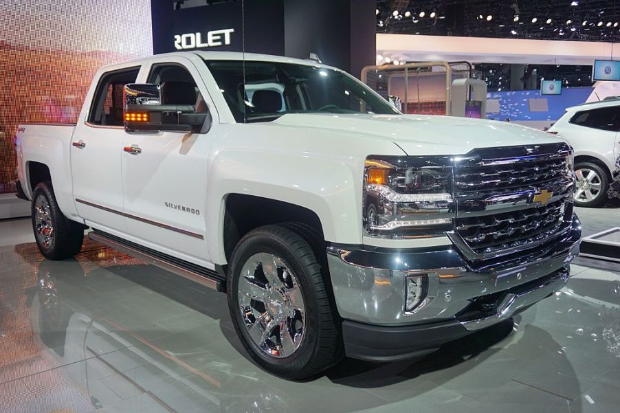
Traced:
<path fill-rule="evenodd" d="M 149 0 L 0 0 L 0 193 L 21 122 L 76 122 L 102 65 L 153 53 Z"/>

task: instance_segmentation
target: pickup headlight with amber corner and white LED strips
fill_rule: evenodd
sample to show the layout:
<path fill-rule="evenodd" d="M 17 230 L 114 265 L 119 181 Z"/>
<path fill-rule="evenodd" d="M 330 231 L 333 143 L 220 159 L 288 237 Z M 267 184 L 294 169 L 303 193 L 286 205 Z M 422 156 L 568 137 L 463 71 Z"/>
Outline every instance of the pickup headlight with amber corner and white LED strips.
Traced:
<path fill-rule="evenodd" d="M 373 236 L 436 236 L 452 229 L 450 157 L 368 157 L 364 227 Z"/>

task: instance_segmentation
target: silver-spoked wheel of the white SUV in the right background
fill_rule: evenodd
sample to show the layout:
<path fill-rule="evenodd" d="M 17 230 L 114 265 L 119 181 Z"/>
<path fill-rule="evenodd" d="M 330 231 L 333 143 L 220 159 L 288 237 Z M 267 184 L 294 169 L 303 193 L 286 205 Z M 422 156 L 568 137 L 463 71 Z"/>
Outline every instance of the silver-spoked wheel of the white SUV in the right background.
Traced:
<path fill-rule="evenodd" d="M 575 165 L 575 206 L 596 208 L 607 201 L 609 177 L 605 170 L 593 162 L 579 162 Z"/>

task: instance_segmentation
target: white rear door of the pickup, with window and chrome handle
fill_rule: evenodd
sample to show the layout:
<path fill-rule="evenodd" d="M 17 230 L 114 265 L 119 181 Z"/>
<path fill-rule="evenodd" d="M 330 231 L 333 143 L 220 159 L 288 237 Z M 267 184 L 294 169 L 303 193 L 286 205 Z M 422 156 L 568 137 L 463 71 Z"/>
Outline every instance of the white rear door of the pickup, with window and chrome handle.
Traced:
<path fill-rule="evenodd" d="M 87 223 L 111 232 L 126 230 L 122 216 L 122 93 L 134 83 L 140 65 L 107 71 L 89 92 L 91 105 L 80 114 L 71 143 L 71 174 L 76 208 Z"/>

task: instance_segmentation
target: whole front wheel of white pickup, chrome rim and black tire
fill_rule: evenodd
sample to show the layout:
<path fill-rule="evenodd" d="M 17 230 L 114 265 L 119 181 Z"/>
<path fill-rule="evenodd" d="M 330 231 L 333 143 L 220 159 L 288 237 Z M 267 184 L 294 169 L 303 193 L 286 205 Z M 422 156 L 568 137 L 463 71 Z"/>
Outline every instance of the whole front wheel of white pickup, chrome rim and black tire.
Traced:
<path fill-rule="evenodd" d="M 323 268 L 297 225 L 266 225 L 234 249 L 228 306 L 256 363 L 280 377 L 307 379 L 340 359 L 340 324 Z"/>

